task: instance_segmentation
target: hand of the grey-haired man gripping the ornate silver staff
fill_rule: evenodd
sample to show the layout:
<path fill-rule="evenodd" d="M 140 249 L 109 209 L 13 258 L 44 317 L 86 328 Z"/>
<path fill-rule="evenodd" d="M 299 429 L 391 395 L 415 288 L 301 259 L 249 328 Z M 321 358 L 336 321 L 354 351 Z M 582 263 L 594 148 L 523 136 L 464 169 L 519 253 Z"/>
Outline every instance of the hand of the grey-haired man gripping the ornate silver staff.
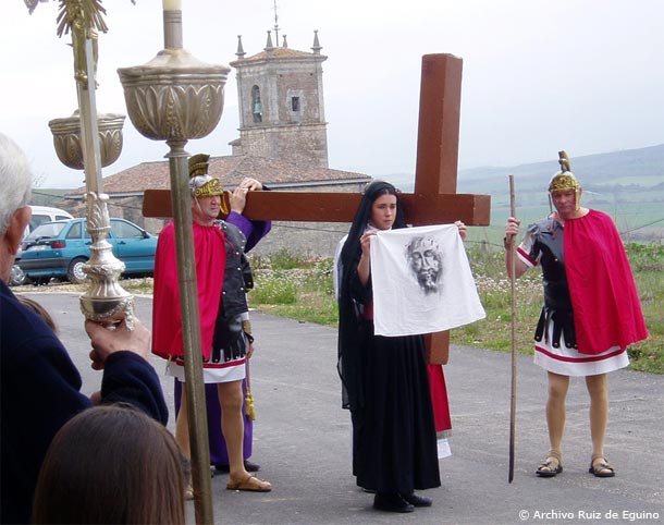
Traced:
<path fill-rule="evenodd" d="M 134 318 L 134 330 L 132 331 L 127 330 L 124 319 L 112 327 L 86 320 L 85 331 L 89 335 L 93 345 L 89 355 L 93 361 L 90 366 L 95 370 L 102 370 L 107 357 L 114 352 L 126 350 L 140 355 L 143 358 L 147 358 L 150 352 L 152 334 L 136 318 Z"/>

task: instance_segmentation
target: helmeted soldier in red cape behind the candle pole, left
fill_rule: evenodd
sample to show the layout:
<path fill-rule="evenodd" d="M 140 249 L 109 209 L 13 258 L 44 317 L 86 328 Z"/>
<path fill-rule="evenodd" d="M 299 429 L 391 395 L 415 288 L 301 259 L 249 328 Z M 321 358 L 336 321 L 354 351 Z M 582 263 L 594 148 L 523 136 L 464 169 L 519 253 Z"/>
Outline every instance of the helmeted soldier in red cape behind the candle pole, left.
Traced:
<path fill-rule="evenodd" d="M 249 474 L 243 461 L 242 383 L 254 351 L 246 300 L 250 271 L 244 255 L 245 237 L 237 227 L 218 219 L 224 204 L 223 188 L 219 179 L 208 174 L 208 159 L 209 155 L 189 159 L 202 377 L 206 383 L 217 384 L 223 411 L 221 428 L 230 462 L 226 488 L 266 492 L 271 485 Z M 185 381 L 176 270 L 174 224 L 169 222 L 159 235 L 155 259 L 152 353 L 169 359 L 167 374 Z M 175 438 L 189 457 L 186 390 L 181 389 L 180 395 Z"/>

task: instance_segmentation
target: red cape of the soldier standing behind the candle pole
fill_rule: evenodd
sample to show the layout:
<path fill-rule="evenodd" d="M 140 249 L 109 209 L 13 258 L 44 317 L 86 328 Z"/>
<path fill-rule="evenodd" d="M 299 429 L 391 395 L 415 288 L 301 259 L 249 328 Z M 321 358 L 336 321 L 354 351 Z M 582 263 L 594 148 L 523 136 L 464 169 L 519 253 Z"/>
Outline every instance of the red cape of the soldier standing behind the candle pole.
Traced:
<path fill-rule="evenodd" d="M 217 227 L 194 223 L 193 228 L 201 354 L 208 359 L 223 285 L 225 242 L 223 232 Z M 164 358 L 184 353 L 174 233 L 171 221 L 159 234 L 155 255 L 152 353 Z"/>

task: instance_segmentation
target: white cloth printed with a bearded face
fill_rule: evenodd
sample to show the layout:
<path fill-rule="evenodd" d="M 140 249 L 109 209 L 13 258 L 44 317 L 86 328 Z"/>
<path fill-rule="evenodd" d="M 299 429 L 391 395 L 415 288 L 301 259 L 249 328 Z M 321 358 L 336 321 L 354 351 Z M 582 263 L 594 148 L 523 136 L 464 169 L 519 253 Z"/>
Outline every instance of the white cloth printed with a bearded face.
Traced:
<path fill-rule="evenodd" d="M 377 335 L 439 332 L 485 317 L 454 224 L 380 231 L 371 237 Z"/>

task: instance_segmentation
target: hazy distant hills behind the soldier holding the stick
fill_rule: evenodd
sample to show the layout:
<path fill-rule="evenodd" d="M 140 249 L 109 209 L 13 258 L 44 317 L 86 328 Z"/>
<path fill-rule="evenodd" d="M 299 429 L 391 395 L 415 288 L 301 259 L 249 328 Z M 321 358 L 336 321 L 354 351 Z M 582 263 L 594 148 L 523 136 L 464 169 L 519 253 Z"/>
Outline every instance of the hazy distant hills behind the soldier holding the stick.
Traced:
<path fill-rule="evenodd" d="M 625 240 L 664 240 L 664 144 L 585 157 L 570 152 L 570 163 L 583 186 L 582 204 L 610 213 Z M 472 229 L 471 237 L 481 235 L 500 245 L 509 213 L 511 174 L 515 178 L 517 216 L 528 224 L 549 213 L 546 187 L 558 170 L 557 159 L 459 170 L 458 193 L 491 195 L 491 227 Z M 382 179 L 404 192 L 413 191 L 413 175 L 401 173 Z"/>

